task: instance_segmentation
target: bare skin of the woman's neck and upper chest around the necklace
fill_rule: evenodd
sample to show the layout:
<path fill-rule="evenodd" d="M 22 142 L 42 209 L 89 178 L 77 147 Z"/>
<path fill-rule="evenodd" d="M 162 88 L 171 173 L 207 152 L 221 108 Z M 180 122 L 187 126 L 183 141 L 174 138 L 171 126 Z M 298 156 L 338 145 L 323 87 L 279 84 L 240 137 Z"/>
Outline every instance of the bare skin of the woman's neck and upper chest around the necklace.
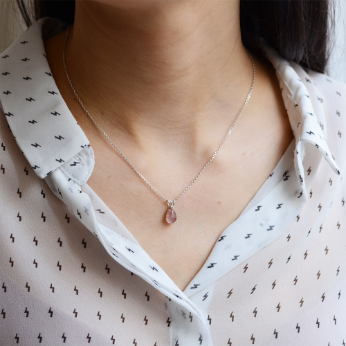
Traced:
<path fill-rule="evenodd" d="M 175 199 L 233 125 L 253 78 L 236 0 L 76 3 L 66 66 L 86 109 L 131 163 Z M 88 185 L 180 289 L 206 262 L 293 139 L 273 66 L 253 54 L 251 99 L 219 154 L 165 222 L 167 204 L 83 111 L 66 79 L 66 31 L 45 44 L 53 77 L 95 152 Z"/>

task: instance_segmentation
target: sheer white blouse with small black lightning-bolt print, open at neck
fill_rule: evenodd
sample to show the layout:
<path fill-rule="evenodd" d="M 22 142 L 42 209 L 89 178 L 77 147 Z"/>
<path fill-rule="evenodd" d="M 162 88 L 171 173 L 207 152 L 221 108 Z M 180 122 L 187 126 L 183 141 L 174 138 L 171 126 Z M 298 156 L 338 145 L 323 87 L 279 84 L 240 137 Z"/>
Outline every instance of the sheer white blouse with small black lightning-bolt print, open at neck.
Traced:
<path fill-rule="evenodd" d="M 295 138 L 181 291 L 86 183 L 44 54 L 65 28 L 0 58 L 0 345 L 345 345 L 345 84 L 263 44 Z"/>

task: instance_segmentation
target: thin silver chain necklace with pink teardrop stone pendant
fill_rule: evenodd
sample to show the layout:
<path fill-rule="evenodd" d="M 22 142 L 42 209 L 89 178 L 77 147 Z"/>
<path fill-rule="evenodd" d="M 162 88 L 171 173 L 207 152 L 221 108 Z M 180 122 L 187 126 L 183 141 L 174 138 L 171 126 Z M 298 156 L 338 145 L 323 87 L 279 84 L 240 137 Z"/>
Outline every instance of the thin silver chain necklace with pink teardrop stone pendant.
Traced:
<path fill-rule="evenodd" d="M 154 186 L 149 183 L 149 181 L 147 181 L 147 179 L 145 179 L 145 177 L 140 174 L 140 172 L 138 172 L 138 170 L 136 169 L 136 167 L 134 167 L 134 165 L 132 165 L 129 160 L 127 160 L 127 158 L 124 156 L 124 154 L 122 154 L 122 152 L 120 152 L 120 150 L 118 149 L 118 147 L 116 147 L 116 145 L 112 142 L 111 138 L 109 138 L 109 136 L 107 136 L 107 134 L 103 131 L 103 129 L 100 127 L 100 125 L 98 125 L 98 123 L 95 121 L 95 119 L 91 116 L 91 114 L 89 113 L 89 111 L 87 111 L 87 109 L 85 108 L 83 102 L 80 100 L 77 92 L 75 91 L 75 88 L 72 85 L 72 82 L 70 80 L 69 77 L 69 73 L 67 73 L 67 69 L 66 69 L 66 61 L 65 61 L 65 51 L 66 51 L 66 43 L 67 43 L 67 37 L 69 37 L 69 32 L 70 32 L 71 26 L 69 27 L 69 30 L 67 30 L 66 33 L 66 38 L 65 38 L 65 43 L 64 43 L 64 51 L 62 53 L 62 60 L 64 62 L 64 69 L 65 69 L 65 73 L 66 73 L 66 77 L 67 80 L 69 80 L 69 84 L 71 85 L 71 88 L 73 90 L 73 93 L 75 93 L 75 97 L 77 98 L 78 102 L 80 102 L 80 105 L 82 106 L 82 108 L 84 109 L 84 111 L 86 112 L 86 114 L 88 114 L 89 118 L 91 118 L 91 120 L 93 121 L 93 123 L 98 127 L 98 129 L 100 129 L 100 131 L 102 132 L 102 134 L 104 135 L 104 137 L 107 138 L 107 140 L 109 141 L 109 143 L 111 143 L 111 145 L 114 147 L 114 149 L 116 149 L 116 151 L 118 152 L 118 154 L 127 162 L 127 164 L 134 170 L 134 172 L 136 172 L 138 174 L 138 176 L 140 176 L 141 179 L 143 179 L 143 181 L 145 181 L 145 183 L 147 183 L 147 185 L 149 186 L 149 188 L 151 188 L 157 195 L 158 197 L 160 197 L 161 199 L 163 199 L 163 201 L 165 201 L 168 205 L 168 210 L 166 212 L 166 221 L 168 224 L 173 224 L 176 221 L 176 211 L 173 209 L 174 204 L 176 203 L 176 201 L 178 201 L 183 194 L 185 194 L 185 192 L 187 192 L 192 184 L 197 181 L 197 179 L 199 178 L 199 176 L 204 172 L 204 170 L 206 170 L 206 167 L 208 167 L 209 163 L 212 162 L 212 160 L 215 158 L 215 156 L 217 155 L 217 153 L 219 152 L 219 150 L 221 149 L 222 145 L 224 145 L 224 143 L 226 142 L 228 136 L 230 136 L 230 133 L 233 131 L 233 128 L 235 127 L 235 124 L 237 124 L 237 121 L 239 120 L 240 116 L 242 115 L 244 108 L 246 107 L 246 104 L 248 103 L 248 100 L 250 99 L 251 96 L 251 92 L 253 91 L 253 84 L 255 82 L 255 62 L 253 62 L 253 57 L 251 56 L 250 52 L 246 49 L 246 51 L 248 52 L 248 55 L 250 55 L 251 57 L 251 61 L 253 63 L 253 82 L 251 84 L 251 88 L 250 91 L 248 93 L 248 96 L 243 104 L 242 109 L 240 109 L 237 118 L 235 119 L 235 122 L 233 123 L 232 127 L 230 128 L 230 130 L 228 131 L 228 134 L 226 135 L 226 137 L 224 138 L 224 140 L 221 142 L 221 144 L 219 145 L 219 147 L 216 149 L 216 151 L 214 152 L 214 154 L 212 154 L 212 156 L 210 157 L 210 159 L 208 160 L 208 162 L 206 163 L 206 165 L 201 169 L 201 171 L 199 172 L 199 174 L 197 174 L 197 176 L 195 176 L 195 178 L 191 181 L 191 183 L 185 188 L 185 190 L 183 190 L 183 192 L 181 192 L 181 194 L 179 194 L 178 197 L 176 197 L 176 199 L 173 200 L 169 200 L 169 199 L 165 199 L 165 197 L 163 197 L 163 195 L 158 192 L 158 190 L 156 190 L 156 188 L 154 188 Z"/>

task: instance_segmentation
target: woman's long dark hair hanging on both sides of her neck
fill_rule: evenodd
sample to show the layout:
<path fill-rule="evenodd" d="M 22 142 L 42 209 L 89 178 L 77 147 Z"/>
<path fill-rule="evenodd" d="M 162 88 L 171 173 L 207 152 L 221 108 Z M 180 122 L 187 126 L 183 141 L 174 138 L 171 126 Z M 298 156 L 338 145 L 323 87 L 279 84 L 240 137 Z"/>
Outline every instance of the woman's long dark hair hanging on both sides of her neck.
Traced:
<path fill-rule="evenodd" d="M 17 0 L 21 14 L 30 26 L 42 17 L 55 17 L 72 24 L 75 0 Z M 257 48 L 263 37 L 286 60 L 324 72 L 334 31 L 334 3 L 331 0 L 240 0 L 242 41 Z"/>

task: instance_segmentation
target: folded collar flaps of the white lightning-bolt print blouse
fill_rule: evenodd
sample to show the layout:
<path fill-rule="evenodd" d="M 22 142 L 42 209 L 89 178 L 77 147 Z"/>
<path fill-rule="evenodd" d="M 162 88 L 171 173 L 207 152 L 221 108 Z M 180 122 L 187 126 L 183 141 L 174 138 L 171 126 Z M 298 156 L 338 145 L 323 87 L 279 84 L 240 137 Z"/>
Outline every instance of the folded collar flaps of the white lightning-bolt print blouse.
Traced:
<path fill-rule="evenodd" d="M 57 89 L 44 51 L 43 39 L 66 27 L 57 19 L 39 19 L 1 54 L 0 59 L 3 111 L 17 144 L 40 178 L 89 144 Z M 298 181 L 304 184 L 304 143 L 315 145 L 334 172 L 340 174 L 325 140 L 324 110 L 312 100 L 311 94 L 318 97 L 316 86 L 306 82 L 309 75 L 298 64 L 287 62 L 263 42 L 261 47 L 275 68 L 295 136 Z M 323 130 L 318 120 L 324 122 Z"/>

